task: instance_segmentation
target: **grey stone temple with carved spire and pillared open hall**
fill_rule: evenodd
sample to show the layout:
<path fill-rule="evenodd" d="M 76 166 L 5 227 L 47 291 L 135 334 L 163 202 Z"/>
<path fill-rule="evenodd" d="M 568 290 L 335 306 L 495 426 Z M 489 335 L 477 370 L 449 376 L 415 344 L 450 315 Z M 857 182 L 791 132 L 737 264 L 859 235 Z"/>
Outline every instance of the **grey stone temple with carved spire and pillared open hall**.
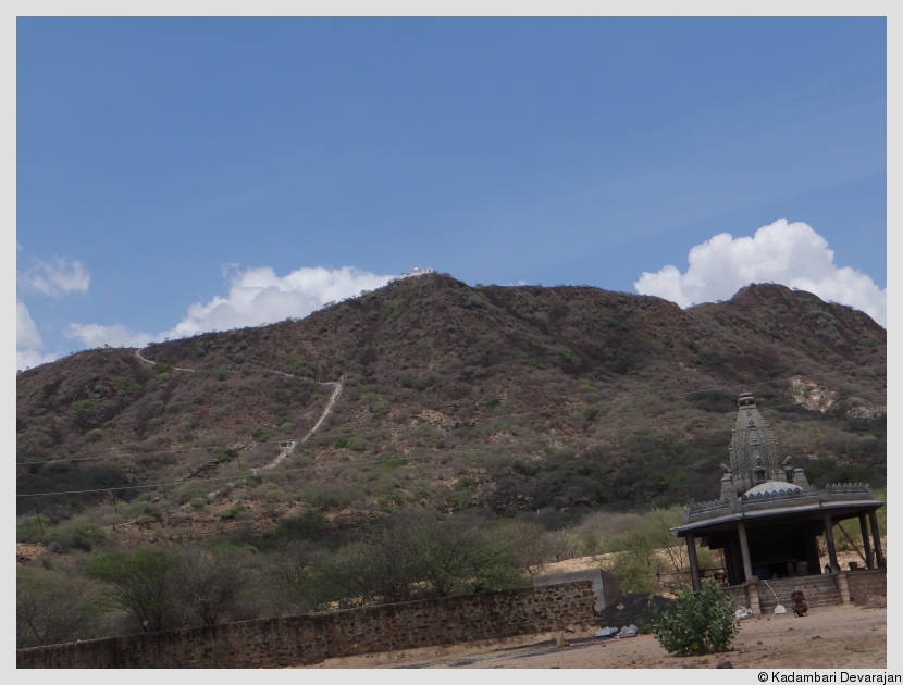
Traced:
<path fill-rule="evenodd" d="M 701 588 L 696 543 L 721 550 L 725 581 L 729 586 L 802 578 L 836 576 L 843 597 L 845 576 L 837 560 L 833 525 L 858 519 L 865 565 L 855 570 L 882 570 L 885 556 L 876 500 L 863 483 L 840 483 L 818 489 L 809 485 L 791 458 L 781 458 L 778 440 L 756 408 L 755 398 L 738 399 L 737 422 L 730 443 L 730 464 L 722 464 L 718 499 L 684 509 L 683 524 L 675 528 L 686 540 L 693 588 Z M 819 537 L 827 550 L 822 568 Z M 757 602 L 751 598 L 752 605 Z M 755 608 L 755 607 L 754 607 Z"/>

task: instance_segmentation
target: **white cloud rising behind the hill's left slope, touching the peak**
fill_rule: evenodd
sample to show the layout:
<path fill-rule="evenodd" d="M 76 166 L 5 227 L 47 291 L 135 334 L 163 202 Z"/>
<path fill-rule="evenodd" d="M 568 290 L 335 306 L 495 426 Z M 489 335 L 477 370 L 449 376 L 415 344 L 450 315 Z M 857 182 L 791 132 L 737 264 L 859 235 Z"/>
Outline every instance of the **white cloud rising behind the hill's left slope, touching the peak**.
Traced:
<path fill-rule="evenodd" d="M 388 283 L 380 276 L 351 266 L 329 270 L 302 267 L 279 276 L 269 266 L 240 270 L 231 267 L 226 277 L 228 294 L 209 302 L 197 302 L 173 328 L 153 336 L 125 326 L 70 324 L 66 335 L 86 347 L 144 347 L 151 340 L 181 338 L 211 331 L 228 331 L 304 317 L 332 301 L 344 300 Z"/>

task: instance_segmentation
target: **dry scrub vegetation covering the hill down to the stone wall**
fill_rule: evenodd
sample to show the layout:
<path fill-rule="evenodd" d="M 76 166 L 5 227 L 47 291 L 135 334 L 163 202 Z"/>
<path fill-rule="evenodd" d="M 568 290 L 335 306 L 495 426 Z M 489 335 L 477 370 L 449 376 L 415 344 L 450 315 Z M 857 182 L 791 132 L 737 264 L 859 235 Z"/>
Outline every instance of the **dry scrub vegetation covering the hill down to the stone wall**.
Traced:
<path fill-rule="evenodd" d="M 239 571 L 215 621 L 510 587 L 605 552 L 624 588 L 656 587 L 682 561 L 648 549 L 679 557 L 663 531 L 717 496 L 742 389 L 813 484 L 886 481 L 885 329 L 782 286 L 680 310 L 431 274 L 140 354 L 152 363 L 99 349 L 17 375 L 17 541 L 44 550 L 18 566 L 34 626 L 139 630 L 98 559 L 128 569 L 146 548 L 169 561 L 164 589 L 209 560 Z M 178 597 L 160 626 L 207 615 Z"/>

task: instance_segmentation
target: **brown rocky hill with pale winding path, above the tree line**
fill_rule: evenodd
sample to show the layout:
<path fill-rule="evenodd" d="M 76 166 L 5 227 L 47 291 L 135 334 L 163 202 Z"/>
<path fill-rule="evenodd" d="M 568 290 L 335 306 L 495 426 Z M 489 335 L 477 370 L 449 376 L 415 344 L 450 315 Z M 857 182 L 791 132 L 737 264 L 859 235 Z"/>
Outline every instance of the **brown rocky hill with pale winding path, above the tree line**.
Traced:
<path fill-rule="evenodd" d="M 190 537 L 305 510 L 354 525 L 410 505 L 709 499 L 741 391 L 811 482 L 882 486 L 886 335 L 779 285 L 681 310 L 425 274 L 302 320 L 20 373 L 18 511 L 170 515 Z"/>

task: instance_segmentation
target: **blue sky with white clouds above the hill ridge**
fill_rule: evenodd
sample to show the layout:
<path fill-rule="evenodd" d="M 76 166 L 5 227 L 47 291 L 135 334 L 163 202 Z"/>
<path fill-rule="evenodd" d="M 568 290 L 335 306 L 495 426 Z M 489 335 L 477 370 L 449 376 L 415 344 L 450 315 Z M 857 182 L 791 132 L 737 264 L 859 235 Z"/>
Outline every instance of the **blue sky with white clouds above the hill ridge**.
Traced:
<path fill-rule="evenodd" d="M 887 325 L 883 17 L 18 17 L 18 369 L 413 266 Z"/>

